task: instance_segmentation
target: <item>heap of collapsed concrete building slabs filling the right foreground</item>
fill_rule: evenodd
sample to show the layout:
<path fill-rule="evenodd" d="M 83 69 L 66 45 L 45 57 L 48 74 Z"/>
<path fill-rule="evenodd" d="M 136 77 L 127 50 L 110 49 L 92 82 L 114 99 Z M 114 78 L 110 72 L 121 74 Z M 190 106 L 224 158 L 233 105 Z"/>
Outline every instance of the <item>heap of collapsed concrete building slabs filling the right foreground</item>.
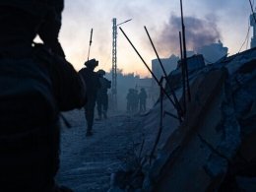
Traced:
<path fill-rule="evenodd" d="M 176 109 L 163 97 L 139 125 L 139 157 L 121 170 L 123 180 L 113 177 L 119 179 L 109 191 L 256 190 L 256 48 L 212 65 L 201 56 L 190 60 L 182 122 L 167 115 Z M 168 79 L 182 103 L 179 68 Z"/>

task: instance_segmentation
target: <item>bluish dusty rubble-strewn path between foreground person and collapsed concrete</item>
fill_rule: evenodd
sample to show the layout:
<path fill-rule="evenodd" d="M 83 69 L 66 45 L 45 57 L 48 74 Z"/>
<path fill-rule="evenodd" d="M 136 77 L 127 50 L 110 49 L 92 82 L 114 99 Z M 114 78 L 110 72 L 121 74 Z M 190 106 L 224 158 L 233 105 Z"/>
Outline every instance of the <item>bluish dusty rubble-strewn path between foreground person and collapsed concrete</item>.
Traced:
<path fill-rule="evenodd" d="M 86 137 L 84 110 L 64 113 L 72 128 L 61 133 L 61 164 L 57 181 L 75 192 L 107 191 L 110 174 L 121 165 L 129 145 L 140 140 L 141 117 L 119 115 L 95 121 Z"/>

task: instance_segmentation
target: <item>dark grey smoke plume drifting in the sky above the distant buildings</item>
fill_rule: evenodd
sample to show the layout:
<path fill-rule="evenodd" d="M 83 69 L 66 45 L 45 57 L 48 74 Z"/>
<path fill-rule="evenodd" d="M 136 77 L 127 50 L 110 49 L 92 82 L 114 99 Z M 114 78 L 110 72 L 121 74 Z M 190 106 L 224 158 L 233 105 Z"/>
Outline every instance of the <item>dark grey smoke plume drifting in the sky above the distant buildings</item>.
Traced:
<path fill-rule="evenodd" d="M 199 19 L 195 17 L 184 17 L 186 45 L 188 50 L 197 50 L 199 47 L 216 42 L 221 38 L 214 17 Z M 160 51 L 168 54 L 179 54 L 179 34 L 181 32 L 181 18 L 171 15 L 168 23 L 160 32 L 158 43 Z"/>

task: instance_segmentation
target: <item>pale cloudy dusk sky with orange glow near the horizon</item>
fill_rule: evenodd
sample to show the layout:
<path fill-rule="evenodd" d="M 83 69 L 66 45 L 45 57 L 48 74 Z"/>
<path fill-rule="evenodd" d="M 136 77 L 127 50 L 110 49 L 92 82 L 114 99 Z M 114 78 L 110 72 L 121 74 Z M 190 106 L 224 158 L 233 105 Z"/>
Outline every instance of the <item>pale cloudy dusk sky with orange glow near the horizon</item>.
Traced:
<path fill-rule="evenodd" d="M 249 0 L 183 0 L 183 12 L 188 49 L 220 39 L 228 47 L 229 54 L 239 51 L 248 32 Z M 94 29 L 90 58 L 99 61 L 98 69 L 109 71 L 112 66 L 113 18 L 117 19 L 117 24 L 132 19 L 120 27 L 149 65 L 156 55 L 144 26 L 160 57 L 179 54 L 179 0 L 65 0 L 59 39 L 67 59 L 77 70 L 88 58 L 90 33 Z M 241 50 L 244 49 L 246 43 Z M 117 65 L 125 73 L 149 74 L 119 29 Z"/>

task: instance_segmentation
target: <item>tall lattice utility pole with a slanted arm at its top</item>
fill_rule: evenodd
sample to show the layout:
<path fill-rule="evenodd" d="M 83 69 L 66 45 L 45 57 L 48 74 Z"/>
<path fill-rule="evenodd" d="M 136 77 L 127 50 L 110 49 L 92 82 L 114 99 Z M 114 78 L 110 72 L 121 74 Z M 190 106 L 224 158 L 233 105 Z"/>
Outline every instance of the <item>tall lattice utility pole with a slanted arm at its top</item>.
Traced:
<path fill-rule="evenodd" d="M 122 22 L 116 25 L 116 18 L 113 18 L 113 27 L 112 27 L 112 85 L 111 85 L 111 96 L 112 96 L 112 107 L 114 110 L 117 110 L 117 26 L 120 26 L 124 23 L 130 22 L 132 19 Z"/>

